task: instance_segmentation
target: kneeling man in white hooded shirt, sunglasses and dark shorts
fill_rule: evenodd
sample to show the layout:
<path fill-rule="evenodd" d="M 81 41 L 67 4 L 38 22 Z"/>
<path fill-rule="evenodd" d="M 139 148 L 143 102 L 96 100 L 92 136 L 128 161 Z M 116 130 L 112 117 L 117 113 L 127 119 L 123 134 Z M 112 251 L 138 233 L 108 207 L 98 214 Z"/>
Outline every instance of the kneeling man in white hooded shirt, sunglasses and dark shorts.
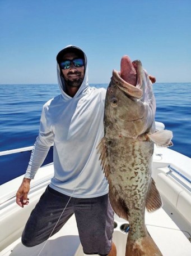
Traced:
<path fill-rule="evenodd" d="M 61 93 L 43 106 L 39 136 L 17 191 L 17 204 L 24 207 L 29 203 L 30 180 L 52 145 L 54 177 L 26 223 L 22 243 L 40 244 L 74 213 L 84 253 L 116 255 L 111 242 L 114 213 L 96 150 L 104 136 L 106 91 L 88 86 L 87 59 L 80 48 L 64 48 L 57 55 L 57 63 Z"/>

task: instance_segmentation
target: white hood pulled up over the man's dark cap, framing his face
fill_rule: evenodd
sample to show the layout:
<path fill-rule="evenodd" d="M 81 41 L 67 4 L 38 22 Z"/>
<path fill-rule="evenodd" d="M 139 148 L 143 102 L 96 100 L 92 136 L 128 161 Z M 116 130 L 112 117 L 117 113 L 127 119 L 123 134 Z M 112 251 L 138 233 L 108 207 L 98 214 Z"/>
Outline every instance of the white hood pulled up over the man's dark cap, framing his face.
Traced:
<path fill-rule="evenodd" d="M 83 96 L 83 94 L 86 92 L 86 90 L 88 88 L 87 57 L 85 55 L 85 52 L 83 52 L 82 49 L 80 47 L 77 47 L 77 46 L 72 46 L 72 45 L 66 46 L 57 55 L 57 79 L 58 79 L 60 92 L 61 92 L 61 94 L 62 94 L 62 96 L 64 97 L 65 100 L 71 99 L 71 96 L 69 96 L 65 93 L 66 87 L 65 87 L 64 78 L 62 77 L 62 70 L 60 70 L 59 63 L 60 63 L 60 61 L 62 61 L 63 55 L 65 55 L 67 52 L 76 53 L 79 57 L 84 59 L 84 63 L 85 63 L 85 66 L 84 66 L 84 73 L 85 74 L 84 74 L 83 82 L 82 82 L 80 88 L 78 89 L 76 95 L 74 95 L 74 97 Z"/>

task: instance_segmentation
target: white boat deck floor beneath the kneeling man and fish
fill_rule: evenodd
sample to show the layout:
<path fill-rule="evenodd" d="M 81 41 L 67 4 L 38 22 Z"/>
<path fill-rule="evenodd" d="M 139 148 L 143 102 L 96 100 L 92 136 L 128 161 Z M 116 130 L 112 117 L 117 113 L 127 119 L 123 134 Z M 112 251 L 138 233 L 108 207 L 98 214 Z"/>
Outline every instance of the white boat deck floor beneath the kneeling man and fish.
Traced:
<path fill-rule="evenodd" d="M 115 222 L 117 223 L 117 227 L 114 229 L 113 241 L 117 245 L 117 255 L 123 256 L 125 255 L 127 234 L 122 232 L 120 227 L 127 222 L 117 216 L 115 216 Z M 188 233 L 181 231 L 164 209 L 161 208 L 154 213 L 146 213 L 146 226 L 164 256 L 190 256 L 191 243 L 187 238 Z M 72 216 L 62 230 L 50 237 L 47 242 L 34 246 L 33 248 L 26 248 L 21 244 L 21 240 L 18 239 L 1 251 L 0 255 L 83 256 L 85 254 L 83 254 L 78 237 L 76 220 Z"/>

